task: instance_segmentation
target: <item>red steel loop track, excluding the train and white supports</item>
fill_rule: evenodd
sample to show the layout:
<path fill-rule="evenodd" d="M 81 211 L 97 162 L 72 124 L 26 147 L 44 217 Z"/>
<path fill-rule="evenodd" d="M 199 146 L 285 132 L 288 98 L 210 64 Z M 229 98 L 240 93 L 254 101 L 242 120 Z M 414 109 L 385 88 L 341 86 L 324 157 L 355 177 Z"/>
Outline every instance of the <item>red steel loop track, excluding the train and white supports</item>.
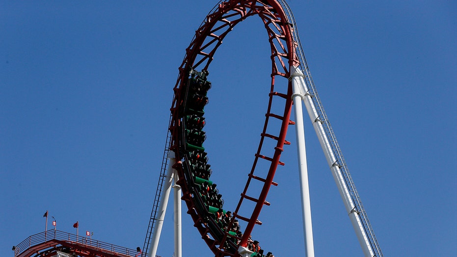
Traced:
<path fill-rule="evenodd" d="M 179 68 L 180 72 L 178 81 L 174 87 L 175 96 L 173 99 L 172 107 L 170 109 L 172 113 L 172 121 L 170 125 L 172 139 L 170 150 L 175 152 L 177 160 L 174 168 L 178 171 L 180 177 L 178 184 L 181 185 L 183 189 L 184 196 L 182 199 L 185 200 L 186 205 L 188 206 L 188 214 L 190 214 L 192 217 L 194 226 L 199 230 L 202 238 L 205 240 L 213 253 L 215 253 L 215 256 L 239 256 L 239 254 L 225 249 L 226 246 L 224 243 L 226 241 L 227 234 L 225 234 L 220 242 L 215 240 L 215 238 L 212 236 L 212 231 L 207 224 L 208 221 L 204 220 L 204 217 L 198 213 L 196 203 L 192 200 L 192 194 L 189 190 L 188 183 L 185 181 L 183 165 L 181 162 L 184 156 L 180 152 L 180 145 L 184 142 L 181 142 L 179 135 L 179 126 L 182 118 L 180 108 L 182 107 L 185 99 L 185 92 L 183 88 L 187 84 L 189 71 L 208 70 L 209 65 L 213 60 L 213 56 L 220 44 L 222 44 L 222 40 L 225 38 L 225 36 L 238 23 L 242 22 L 244 19 L 250 16 L 259 16 L 262 19 L 269 35 L 269 43 L 271 46 L 271 85 L 268 92 L 269 103 L 264 128 L 261 133 L 259 147 L 255 155 L 253 166 L 247 178 L 246 186 L 242 192 L 242 197 L 237 205 L 236 210 L 233 213 L 235 218 L 239 218 L 240 220 L 247 222 L 243 236 L 242 238 L 239 238 L 239 245 L 246 246 L 248 237 L 251 234 L 254 226 L 256 224 L 261 224 L 261 222 L 258 221 L 258 217 L 263 205 L 268 203 L 266 198 L 270 186 L 277 185 L 275 182 L 273 182 L 273 177 L 276 171 L 276 167 L 278 165 L 283 165 L 283 163 L 279 160 L 283 151 L 284 144 L 290 144 L 290 142 L 286 141 L 287 128 L 289 125 L 294 124 L 290 120 L 292 109 L 291 83 L 289 82 L 286 88 L 284 88 L 284 85 L 283 87 L 280 87 L 280 90 L 283 92 L 277 92 L 274 85 L 275 76 L 280 76 L 288 79 L 290 76 L 290 65 L 297 66 L 299 64 L 299 60 L 295 52 L 296 44 L 292 37 L 294 28 L 288 21 L 288 18 L 285 14 L 285 11 L 281 7 L 281 4 L 276 0 L 229 0 L 220 2 L 206 17 L 200 28 L 196 30 L 194 38 L 186 49 L 186 56 Z M 284 101 L 284 99 L 286 100 L 284 112 L 281 115 L 271 113 L 271 106 L 274 99 L 283 99 L 282 101 Z M 277 136 L 267 133 L 270 117 L 279 118 L 281 120 L 281 126 L 277 132 Z M 274 149 L 272 149 L 274 151 L 269 155 L 269 157 L 265 157 L 265 155 L 261 154 L 261 150 L 263 150 L 262 146 L 266 138 L 269 140 L 272 139 L 277 141 L 276 146 Z M 271 162 L 266 177 L 259 177 L 254 175 L 256 164 L 259 158 L 263 158 Z M 246 195 L 252 178 L 264 183 L 258 198 Z M 256 201 L 256 205 L 252 210 L 252 213 L 249 214 L 249 218 L 243 217 L 242 214 L 239 213 L 241 211 L 243 200 Z M 232 223 L 233 220 L 234 219 L 232 219 Z M 229 228 L 230 226 L 232 226 L 232 224 L 229 225 Z"/>

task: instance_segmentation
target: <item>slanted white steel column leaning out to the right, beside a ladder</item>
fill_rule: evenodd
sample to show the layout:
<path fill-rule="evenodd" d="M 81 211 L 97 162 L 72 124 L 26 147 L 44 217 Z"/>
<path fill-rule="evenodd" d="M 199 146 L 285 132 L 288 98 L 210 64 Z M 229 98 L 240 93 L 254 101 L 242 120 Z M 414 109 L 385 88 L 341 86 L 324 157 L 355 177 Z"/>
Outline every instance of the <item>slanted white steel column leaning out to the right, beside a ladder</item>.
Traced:
<path fill-rule="evenodd" d="M 346 211 L 349 215 L 349 219 L 357 235 L 357 239 L 359 240 L 359 243 L 362 246 L 363 253 L 366 257 L 373 257 L 375 255 L 370 245 L 370 240 L 368 239 L 365 229 L 363 228 L 359 213 L 354 211 L 356 208 L 351 198 L 348 186 L 344 180 L 344 176 L 342 174 L 340 167 L 337 165 L 337 159 L 335 158 L 330 142 L 325 134 L 325 130 L 323 128 L 321 120 L 319 119 L 319 114 L 316 111 L 313 99 L 311 98 L 311 95 L 307 93 L 308 87 L 304 82 L 303 73 L 298 67 L 291 66 L 291 74 L 297 74 L 294 77 L 294 81 L 296 80 L 296 85 L 299 86 L 297 90 L 299 90 L 299 92 L 305 92 L 304 94 L 302 94 L 302 100 L 305 104 L 306 110 L 308 111 L 308 115 L 311 119 L 311 122 L 313 123 L 313 127 L 316 131 L 319 142 L 321 143 L 321 147 L 323 149 L 325 158 L 327 159 L 328 166 L 330 167 L 330 171 L 332 172 L 333 178 L 335 179 L 338 191 L 340 192 L 341 198 L 343 199 Z M 294 101 L 294 104 L 295 103 L 296 101 Z"/>

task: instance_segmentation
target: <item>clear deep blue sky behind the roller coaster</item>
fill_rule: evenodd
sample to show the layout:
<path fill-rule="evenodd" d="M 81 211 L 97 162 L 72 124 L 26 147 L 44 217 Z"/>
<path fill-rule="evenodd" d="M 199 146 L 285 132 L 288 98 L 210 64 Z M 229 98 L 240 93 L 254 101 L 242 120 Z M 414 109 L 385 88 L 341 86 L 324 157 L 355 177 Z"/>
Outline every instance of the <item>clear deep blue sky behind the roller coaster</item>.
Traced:
<path fill-rule="evenodd" d="M 0 256 L 57 229 L 143 246 L 178 66 L 209 0 L 0 1 Z M 304 52 L 384 256 L 456 256 L 456 1 L 289 0 Z M 268 103 L 251 17 L 210 67 L 213 180 L 233 210 Z M 362 256 L 305 118 L 316 256 Z M 253 238 L 304 250 L 294 127 Z M 49 227 L 51 227 L 51 218 Z M 158 255 L 171 257 L 172 210 Z M 185 256 L 211 256 L 183 213 Z M 82 232 L 81 232 L 82 231 Z"/>

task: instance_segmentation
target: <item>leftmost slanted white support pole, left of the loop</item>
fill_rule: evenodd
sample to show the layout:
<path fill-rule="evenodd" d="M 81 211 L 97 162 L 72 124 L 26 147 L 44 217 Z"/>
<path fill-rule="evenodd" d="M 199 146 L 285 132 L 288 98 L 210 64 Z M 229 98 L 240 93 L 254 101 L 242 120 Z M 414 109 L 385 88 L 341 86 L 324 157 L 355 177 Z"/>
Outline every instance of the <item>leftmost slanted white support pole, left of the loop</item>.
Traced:
<path fill-rule="evenodd" d="M 156 220 L 156 225 L 154 226 L 154 231 L 152 233 L 152 243 L 149 248 L 148 257 L 156 257 L 157 247 L 159 246 L 160 234 L 163 226 L 163 219 L 165 218 L 166 206 L 168 204 L 168 198 L 171 192 L 171 186 L 173 184 L 173 165 L 175 164 L 175 155 L 174 152 L 168 152 L 168 170 L 165 176 L 164 188 L 162 190 L 161 201 L 159 205 L 158 217 Z"/>

